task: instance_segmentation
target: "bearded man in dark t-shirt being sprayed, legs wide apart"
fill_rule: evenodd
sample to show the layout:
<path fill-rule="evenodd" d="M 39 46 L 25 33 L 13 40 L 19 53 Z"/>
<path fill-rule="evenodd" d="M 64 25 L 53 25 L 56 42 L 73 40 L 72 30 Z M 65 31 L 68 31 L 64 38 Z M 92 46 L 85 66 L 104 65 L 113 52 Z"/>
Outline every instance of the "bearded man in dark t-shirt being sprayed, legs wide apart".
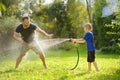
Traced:
<path fill-rule="evenodd" d="M 15 68 L 18 68 L 22 58 L 25 56 L 29 49 L 32 49 L 39 55 L 43 62 L 43 66 L 47 69 L 47 64 L 45 61 L 45 55 L 39 46 L 38 42 L 35 40 L 35 32 L 45 35 L 48 38 L 52 37 L 52 34 L 47 34 L 45 31 L 40 29 L 38 26 L 30 23 L 29 17 L 23 17 L 22 23 L 19 24 L 14 32 L 13 37 L 22 44 L 20 54 L 16 60 Z"/>

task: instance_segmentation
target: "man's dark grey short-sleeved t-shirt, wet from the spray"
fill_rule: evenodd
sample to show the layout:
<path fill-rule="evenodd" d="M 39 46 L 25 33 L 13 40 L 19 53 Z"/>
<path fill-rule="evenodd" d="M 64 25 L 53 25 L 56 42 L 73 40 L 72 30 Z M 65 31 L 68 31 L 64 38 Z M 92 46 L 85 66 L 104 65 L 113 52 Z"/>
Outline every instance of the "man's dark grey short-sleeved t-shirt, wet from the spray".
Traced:
<path fill-rule="evenodd" d="M 29 27 L 24 29 L 23 24 L 19 24 L 16 28 L 16 32 L 21 34 L 22 39 L 29 43 L 34 40 L 35 38 L 35 29 L 37 28 L 36 25 L 30 23 Z"/>

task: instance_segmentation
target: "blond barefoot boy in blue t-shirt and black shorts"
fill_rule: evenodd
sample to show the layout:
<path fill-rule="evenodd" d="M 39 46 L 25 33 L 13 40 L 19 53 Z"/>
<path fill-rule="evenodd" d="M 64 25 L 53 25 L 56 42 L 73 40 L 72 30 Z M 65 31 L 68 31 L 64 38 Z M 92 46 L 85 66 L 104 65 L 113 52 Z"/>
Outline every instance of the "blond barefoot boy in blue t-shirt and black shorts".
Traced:
<path fill-rule="evenodd" d="M 98 72 L 97 63 L 95 62 L 95 46 L 94 46 L 94 36 L 92 31 L 92 25 L 87 23 L 84 25 L 85 36 L 83 39 L 74 40 L 74 43 L 87 43 L 87 62 L 88 62 L 88 72 L 91 71 L 91 64 L 93 63 L 96 72 Z"/>

